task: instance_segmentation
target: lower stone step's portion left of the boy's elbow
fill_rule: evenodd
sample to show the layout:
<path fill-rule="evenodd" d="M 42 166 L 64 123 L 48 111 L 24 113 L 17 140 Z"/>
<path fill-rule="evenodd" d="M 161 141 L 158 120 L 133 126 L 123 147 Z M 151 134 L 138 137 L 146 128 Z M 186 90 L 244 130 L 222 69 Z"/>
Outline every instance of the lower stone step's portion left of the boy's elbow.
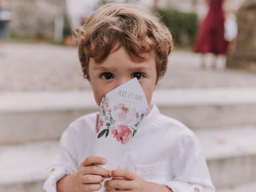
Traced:
<path fill-rule="evenodd" d="M 44 170 L 57 151 L 57 141 L 1 146 L 0 191 L 43 192 Z"/>

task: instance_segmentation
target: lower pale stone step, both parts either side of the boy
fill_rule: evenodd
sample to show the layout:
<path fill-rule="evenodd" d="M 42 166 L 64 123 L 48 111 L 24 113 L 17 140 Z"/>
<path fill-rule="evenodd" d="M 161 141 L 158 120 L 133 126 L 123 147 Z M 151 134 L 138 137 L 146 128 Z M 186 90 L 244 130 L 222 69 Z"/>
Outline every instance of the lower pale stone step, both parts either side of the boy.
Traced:
<path fill-rule="evenodd" d="M 217 189 L 231 192 L 235 186 L 256 182 L 256 127 L 197 130 L 195 133 Z M 58 141 L 1 146 L 0 191 L 42 192 L 46 179 L 44 170 L 57 151 Z"/>

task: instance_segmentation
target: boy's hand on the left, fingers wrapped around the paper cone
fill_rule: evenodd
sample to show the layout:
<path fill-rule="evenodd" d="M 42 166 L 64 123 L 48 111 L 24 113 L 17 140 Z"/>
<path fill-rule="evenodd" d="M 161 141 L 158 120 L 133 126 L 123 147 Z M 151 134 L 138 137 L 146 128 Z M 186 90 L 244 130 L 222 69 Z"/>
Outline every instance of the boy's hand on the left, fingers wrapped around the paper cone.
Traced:
<path fill-rule="evenodd" d="M 75 182 L 76 192 L 91 192 L 101 188 L 100 182 L 104 177 L 110 178 L 109 170 L 94 164 L 105 164 L 104 158 L 99 156 L 88 156 L 80 165 Z"/>

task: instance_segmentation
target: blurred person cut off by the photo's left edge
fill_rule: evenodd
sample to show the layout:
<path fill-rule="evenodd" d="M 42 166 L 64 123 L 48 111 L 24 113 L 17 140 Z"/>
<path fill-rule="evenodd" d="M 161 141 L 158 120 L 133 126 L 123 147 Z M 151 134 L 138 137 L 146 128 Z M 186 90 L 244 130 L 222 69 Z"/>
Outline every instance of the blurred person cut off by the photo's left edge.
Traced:
<path fill-rule="evenodd" d="M 4 41 L 8 37 L 8 23 L 10 18 L 10 11 L 4 9 L 4 0 L 0 0 L 0 57 L 6 56 Z"/>

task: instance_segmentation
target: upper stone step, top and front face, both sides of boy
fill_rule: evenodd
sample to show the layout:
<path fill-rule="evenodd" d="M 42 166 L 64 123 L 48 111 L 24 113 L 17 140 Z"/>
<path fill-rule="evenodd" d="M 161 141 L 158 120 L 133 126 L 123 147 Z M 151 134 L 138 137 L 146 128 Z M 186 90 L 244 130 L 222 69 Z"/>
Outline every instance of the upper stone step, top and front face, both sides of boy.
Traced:
<path fill-rule="evenodd" d="M 256 88 L 157 90 L 152 102 L 192 130 L 256 124 Z M 96 111 L 92 92 L 0 93 L 0 144 L 58 139 Z"/>

